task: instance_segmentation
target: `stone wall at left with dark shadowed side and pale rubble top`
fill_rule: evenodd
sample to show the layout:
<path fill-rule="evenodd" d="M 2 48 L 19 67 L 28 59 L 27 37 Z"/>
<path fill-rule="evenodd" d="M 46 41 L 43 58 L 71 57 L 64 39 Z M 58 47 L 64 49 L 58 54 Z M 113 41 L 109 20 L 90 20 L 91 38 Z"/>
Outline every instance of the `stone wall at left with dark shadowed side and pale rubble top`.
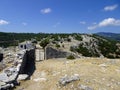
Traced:
<path fill-rule="evenodd" d="M 32 75 L 35 70 L 35 49 L 16 53 L 16 62 L 0 73 L 0 90 L 12 90 L 20 74 Z"/>

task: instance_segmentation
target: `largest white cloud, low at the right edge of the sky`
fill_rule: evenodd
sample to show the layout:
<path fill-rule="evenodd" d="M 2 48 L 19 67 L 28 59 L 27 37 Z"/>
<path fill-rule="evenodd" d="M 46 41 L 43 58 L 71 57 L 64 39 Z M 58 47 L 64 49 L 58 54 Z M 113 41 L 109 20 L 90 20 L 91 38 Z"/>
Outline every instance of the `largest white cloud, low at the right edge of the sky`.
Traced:
<path fill-rule="evenodd" d="M 106 27 L 106 26 L 120 26 L 120 19 L 114 19 L 114 18 L 107 18 L 102 20 L 96 25 L 89 26 L 89 30 L 93 30 L 99 27 Z"/>

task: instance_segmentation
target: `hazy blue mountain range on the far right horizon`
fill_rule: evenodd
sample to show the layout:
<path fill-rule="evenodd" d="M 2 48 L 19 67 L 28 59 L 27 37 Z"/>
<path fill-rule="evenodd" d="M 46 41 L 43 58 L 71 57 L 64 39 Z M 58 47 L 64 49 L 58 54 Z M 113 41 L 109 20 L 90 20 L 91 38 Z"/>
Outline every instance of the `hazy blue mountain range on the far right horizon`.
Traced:
<path fill-rule="evenodd" d="M 99 32 L 99 33 L 96 33 L 96 35 L 99 35 L 108 39 L 120 41 L 119 33 L 117 34 L 117 33 L 110 33 L 110 32 Z"/>

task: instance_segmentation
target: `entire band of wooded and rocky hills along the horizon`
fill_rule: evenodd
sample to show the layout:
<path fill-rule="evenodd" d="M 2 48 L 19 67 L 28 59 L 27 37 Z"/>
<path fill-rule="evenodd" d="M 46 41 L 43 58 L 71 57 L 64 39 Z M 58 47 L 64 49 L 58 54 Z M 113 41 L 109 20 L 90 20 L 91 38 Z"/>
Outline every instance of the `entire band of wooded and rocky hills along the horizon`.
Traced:
<path fill-rule="evenodd" d="M 120 58 L 120 34 L 97 33 L 3 33 L 0 32 L 0 46 L 15 46 L 18 43 L 36 39 L 41 46 L 52 44 L 60 50 L 85 57 Z M 116 41 L 117 40 L 117 41 Z"/>

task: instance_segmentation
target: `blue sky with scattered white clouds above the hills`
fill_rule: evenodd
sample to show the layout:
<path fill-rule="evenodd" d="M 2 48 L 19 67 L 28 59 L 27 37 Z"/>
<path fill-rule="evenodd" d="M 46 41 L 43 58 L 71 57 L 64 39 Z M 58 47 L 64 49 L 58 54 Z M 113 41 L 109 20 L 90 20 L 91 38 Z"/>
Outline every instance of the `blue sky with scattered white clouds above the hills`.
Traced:
<path fill-rule="evenodd" d="M 0 0 L 0 31 L 120 33 L 120 0 Z"/>

